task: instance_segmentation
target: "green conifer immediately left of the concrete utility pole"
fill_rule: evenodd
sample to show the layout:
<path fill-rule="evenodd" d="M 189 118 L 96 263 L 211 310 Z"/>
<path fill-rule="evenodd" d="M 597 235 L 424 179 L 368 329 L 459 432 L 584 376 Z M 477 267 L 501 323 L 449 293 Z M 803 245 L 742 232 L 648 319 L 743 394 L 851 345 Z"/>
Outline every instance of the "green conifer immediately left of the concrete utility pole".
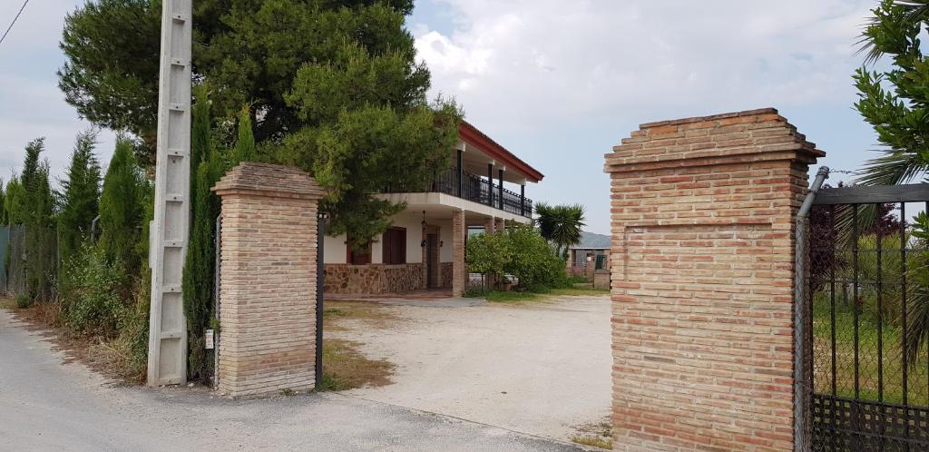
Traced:
<path fill-rule="evenodd" d="M 132 141 L 118 138 L 100 193 L 99 246 L 108 259 L 120 259 L 128 274 L 137 274 L 141 264 L 136 245 L 142 230 L 145 188 Z"/>

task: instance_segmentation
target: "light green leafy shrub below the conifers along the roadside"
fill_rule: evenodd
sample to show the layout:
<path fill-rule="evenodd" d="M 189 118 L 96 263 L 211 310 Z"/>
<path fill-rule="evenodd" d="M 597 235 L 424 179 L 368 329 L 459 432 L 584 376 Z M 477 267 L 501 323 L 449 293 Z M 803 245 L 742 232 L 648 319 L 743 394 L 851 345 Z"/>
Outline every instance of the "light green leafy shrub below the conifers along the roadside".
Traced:
<path fill-rule="evenodd" d="M 65 262 L 59 286 L 63 323 L 77 333 L 113 338 L 124 322 L 122 265 L 85 244 Z"/>

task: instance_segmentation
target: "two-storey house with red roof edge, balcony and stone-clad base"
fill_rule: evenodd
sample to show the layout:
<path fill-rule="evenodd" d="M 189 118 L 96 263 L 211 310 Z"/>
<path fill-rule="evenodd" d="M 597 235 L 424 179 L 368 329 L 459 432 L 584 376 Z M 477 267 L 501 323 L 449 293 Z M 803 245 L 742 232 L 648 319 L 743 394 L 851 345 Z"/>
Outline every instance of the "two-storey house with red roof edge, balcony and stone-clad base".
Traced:
<path fill-rule="evenodd" d="M 504 224 L 529 223 L 528 183 L 543 174 L 462 122 L 454 165 L 423 192 L 386 190 L 377 197 L 406 203 L 390 228 L 367 249 L 352 250 L 345 234 L 323 239 L 327 294 L 399 294 L 423 290 L 461 295 L 467 277 L 468 231 L 493 232 Z"/>

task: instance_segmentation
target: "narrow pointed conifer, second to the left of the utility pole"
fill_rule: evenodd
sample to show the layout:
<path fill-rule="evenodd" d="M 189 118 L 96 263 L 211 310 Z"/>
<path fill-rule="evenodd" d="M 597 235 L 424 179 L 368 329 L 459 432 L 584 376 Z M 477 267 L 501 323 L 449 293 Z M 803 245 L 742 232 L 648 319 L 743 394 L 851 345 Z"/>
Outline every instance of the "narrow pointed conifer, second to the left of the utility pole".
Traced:
<path fill-rule="evenodd" d="M 90 226 L 98 213 L 100 165 L 94 154 L 96 144 L 95 130 L 77 136 L 67 179 L 61 180 L 58 223 L 62 261 L 69 259 L 89 237 Z"/>

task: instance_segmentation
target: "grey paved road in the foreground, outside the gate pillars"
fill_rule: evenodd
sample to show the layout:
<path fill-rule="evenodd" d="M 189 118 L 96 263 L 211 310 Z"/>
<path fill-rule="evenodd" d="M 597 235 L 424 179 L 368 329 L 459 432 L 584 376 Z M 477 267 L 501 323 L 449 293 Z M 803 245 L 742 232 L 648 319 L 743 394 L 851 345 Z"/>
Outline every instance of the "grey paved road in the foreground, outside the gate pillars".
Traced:
<path fill-rule="evenodd" d="M 205 390 L 115 387 L 62 359 L 0 310 L 0 449 L 576 449 L 339 394 L 229 401 Z"/>

